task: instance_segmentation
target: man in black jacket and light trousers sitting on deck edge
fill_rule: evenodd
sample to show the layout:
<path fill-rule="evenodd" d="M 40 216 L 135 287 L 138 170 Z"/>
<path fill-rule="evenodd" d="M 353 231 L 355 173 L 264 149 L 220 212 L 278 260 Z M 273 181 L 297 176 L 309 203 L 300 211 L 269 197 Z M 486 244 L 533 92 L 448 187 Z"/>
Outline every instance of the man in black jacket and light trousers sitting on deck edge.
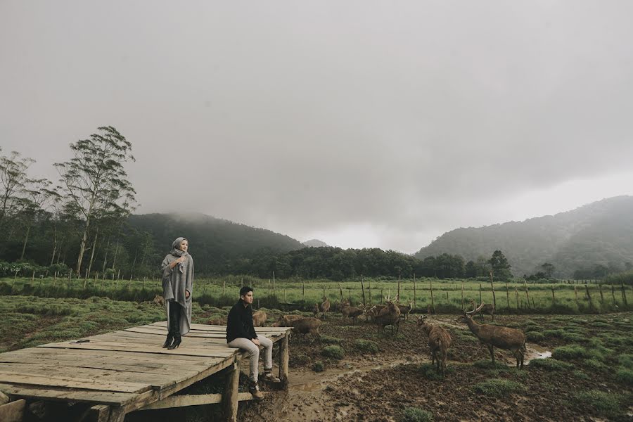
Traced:
<path fill-rule="evenodd" d="M 263 335 L 255 333 L 252 326 L 252 288 L 244 286 L 240 289 L 240 300 L 233 305 L 226 321 L 226 342 L 229 347 L 236 347 L 248 352 L 250 357 L 250 394 L 261 400 L 264 395 L 257 385 L 260 360 L 260 345 L 264 347 L 264 375 L 262 380 L 279 383 L 280 380 L 272 374 L 272 345 L 273 343 Z"/>

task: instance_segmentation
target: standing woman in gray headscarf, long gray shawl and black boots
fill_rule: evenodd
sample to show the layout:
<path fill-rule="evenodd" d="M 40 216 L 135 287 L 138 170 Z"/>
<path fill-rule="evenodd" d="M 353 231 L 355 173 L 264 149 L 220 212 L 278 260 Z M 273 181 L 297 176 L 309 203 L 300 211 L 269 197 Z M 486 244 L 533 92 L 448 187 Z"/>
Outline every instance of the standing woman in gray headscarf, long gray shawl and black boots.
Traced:
<path fill-rule="evenodd" d="M 181 335 L 191 325 L 191 293 L 193 292 L 193 258 L 187 253 L 189 242 L 177 238 L 172 251 L 162 260 L 162 297 L 167 310 L 167 340 L 162 345 L 173 350 L 182 341 Z"/>

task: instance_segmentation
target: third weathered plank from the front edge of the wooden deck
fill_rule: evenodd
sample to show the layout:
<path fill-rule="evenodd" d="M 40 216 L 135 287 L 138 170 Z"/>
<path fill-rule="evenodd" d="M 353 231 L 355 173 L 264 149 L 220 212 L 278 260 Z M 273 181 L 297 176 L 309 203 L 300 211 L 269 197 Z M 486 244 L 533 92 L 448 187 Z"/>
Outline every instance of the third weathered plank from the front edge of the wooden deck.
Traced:
<path fill-rule="evenodd" d="M 194 376 L 198 372 L 173 373 L 162 371 L 162 373 L 142 373 L 113 371 L 101 368 L 79 368 L 77 366 L 59 366 L 56 364 L 0 364 L 0 371 L 5 373 L 15 373 L 21 375 L 30 373 L 39 376 L 63 377 L 72 373 L 73 378 L 83 378 L 94 381 L 116 381 L 117 383 L 138 383 L 151 385 L 152 388 L 161 389 L 179 383 L 189 376 Z"/>

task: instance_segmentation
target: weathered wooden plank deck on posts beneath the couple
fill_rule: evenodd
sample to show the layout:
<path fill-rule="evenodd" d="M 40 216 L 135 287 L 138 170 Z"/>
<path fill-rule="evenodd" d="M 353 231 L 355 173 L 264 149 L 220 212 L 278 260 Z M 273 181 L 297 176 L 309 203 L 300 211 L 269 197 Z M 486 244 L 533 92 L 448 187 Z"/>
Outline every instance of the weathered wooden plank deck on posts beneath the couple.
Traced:
<path fill-rule="evenodd" d="M 257 328 L 274 343 L 281 342 L 279 378 L 284 387 L 289 330 Z M 166 333 L 161 321 L 0 353 L 0 391 L 17 399 L 84 403 L 79 419 L 98 422 L 122 422 L 131 411 L 212 403 L 222 403 L 226 420 L 235 421 L 238 402 L 252 396 L 238 393 L 243 354 L 226 345 L 226 326 L 191 324 L 174 350 L 161 347 Z M 175 395 L 222 370 L 229 372 L 222 394 Z"/>

